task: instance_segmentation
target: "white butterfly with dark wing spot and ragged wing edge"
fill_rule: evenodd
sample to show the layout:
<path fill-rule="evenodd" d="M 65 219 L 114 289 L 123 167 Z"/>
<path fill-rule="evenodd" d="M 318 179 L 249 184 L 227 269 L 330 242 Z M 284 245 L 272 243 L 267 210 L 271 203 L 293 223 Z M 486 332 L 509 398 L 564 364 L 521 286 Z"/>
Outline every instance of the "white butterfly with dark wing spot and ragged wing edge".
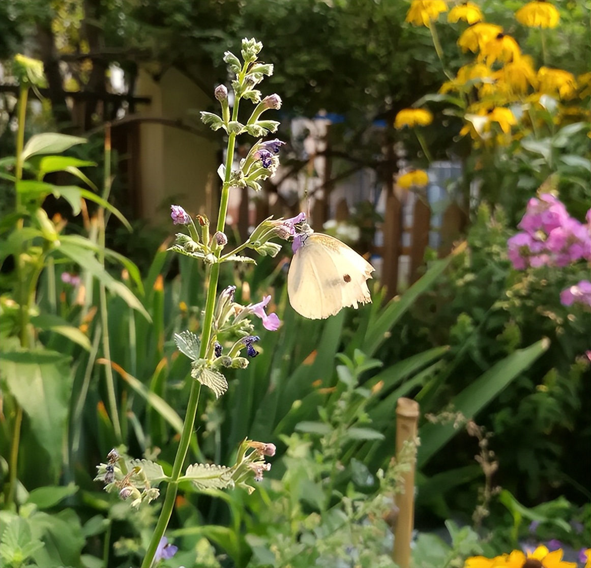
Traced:
<path fill-rule="evenodd" d="M 294 239 L 287 275 L 293 309 L 304 318 L 323 320 L 348 306 L 371 302 L 366 281 L 374 267 L 337 238 L 309 231 Z"/>

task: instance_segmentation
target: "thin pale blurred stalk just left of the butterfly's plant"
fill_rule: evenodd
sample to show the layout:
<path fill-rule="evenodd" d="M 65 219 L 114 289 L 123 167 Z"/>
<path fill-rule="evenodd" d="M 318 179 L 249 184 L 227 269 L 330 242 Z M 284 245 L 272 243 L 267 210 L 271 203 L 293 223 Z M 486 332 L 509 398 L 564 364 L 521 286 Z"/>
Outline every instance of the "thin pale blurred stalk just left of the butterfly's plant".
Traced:
<path fill-rule="evenodd" d="M 111 124 L 105 125 L 105 172 L 103 175 L 103 194 L 102 198 L 105 201 L 109 199 L 111 193 Z M 99 262 L 105 268 L 105 209 L 99 209 L 98 215 L 98 245 L 99 245 Z M 109 311 L 107 309 L 107 292 L 105 285 L 99 285 L 99 301 L 100 301 L 100 323 L 103 334 L 103 356 L 107 360 L 105 365 L 105 377 L 107 386 L 107 398 L 109 402 L 109 413 L 113 421 L 113 430 L 115 430 L 115 438 L 118 444 L 121 444 L 123 437 L 121 434 L 121 422 L 119 421 L 119 409 L 117 408 L 117 397 L 115 394 L 115 377 L 113 376 L 113 369 L 111 367 L 111 345 L 109 344 Z"/>

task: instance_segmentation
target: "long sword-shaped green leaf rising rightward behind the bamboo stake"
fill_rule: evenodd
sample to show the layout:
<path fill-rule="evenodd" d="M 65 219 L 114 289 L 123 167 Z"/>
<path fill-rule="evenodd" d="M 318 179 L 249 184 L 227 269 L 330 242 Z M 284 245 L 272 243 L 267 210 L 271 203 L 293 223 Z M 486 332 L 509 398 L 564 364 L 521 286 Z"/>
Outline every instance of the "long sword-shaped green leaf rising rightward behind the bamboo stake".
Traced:
<path fill-rule="evenodd" d="M 467 386 L 451 401 L 453 410 L 472 418 L 489 404 L 515 377 L 527 369 L 550 346 L 548 339 L 541 339 L 530 347 L 519 349 L 499 361 Z M 427 423 L 419 430 L 421 445 L 418 448 L 417 467 L 423 467 L 459 430 L 453 424 Z"/>

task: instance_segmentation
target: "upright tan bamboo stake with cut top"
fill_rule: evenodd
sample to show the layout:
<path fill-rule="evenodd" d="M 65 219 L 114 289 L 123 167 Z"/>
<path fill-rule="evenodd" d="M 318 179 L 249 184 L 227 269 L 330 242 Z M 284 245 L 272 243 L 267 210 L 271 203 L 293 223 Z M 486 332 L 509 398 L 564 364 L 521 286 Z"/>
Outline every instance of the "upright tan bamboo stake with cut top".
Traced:
<path fill-rule="evenodd" d="M 413 443 L 417 435 L 418 402 L 410 398 L 399 398 L 396 408 L 396 457 L 400 463 L 404 454 L 404 443 Z M 415 454 L 412 454 L 410 469 L 404 474 L 404 491 L 398 493 L 395 504 L 398 519 L 394 530 L 394 553 L 392 558 L 399 568 L 410 566 L 410 541 L 414 525 L 414 470 Z"/>

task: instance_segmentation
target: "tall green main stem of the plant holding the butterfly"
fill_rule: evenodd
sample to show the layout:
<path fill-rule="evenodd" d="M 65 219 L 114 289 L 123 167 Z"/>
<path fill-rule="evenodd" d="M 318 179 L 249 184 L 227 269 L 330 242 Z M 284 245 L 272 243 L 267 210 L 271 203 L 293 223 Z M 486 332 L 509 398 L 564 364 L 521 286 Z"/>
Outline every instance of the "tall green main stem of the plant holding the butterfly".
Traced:
<path fill-rule="evenodd" d="M 232 120 L 236 120 L 238 116 L 238 102 L 236 99 L 234 109 L 232 112 Z M 226 227 L 226 215 L 228 214 L 228 199 L 230 195 L 230 175 L 232 174 L 232 163 L 234 161 L 234 148 L 236 144 L 236 134 L 230 134 L 228 137 L 228 151 L 226 152 L 226 174 L 224 176 L 222 186 L 222 197 L 220 198 L 220 208 L 217 217 L 217 231 L 223 233 Z M 217 251 L 219 259 L 221 251 Z M 206 279 L 207 299 L 205 302 L 205 315 L 203 316 L 203 331 L 201 336 L 201 345 L 199 356 L 203 358 L 207 353 L 207 347 L 212 337 L 213 315 L 216 305 L 217 296 L 217 281 L 219 280 L 220 264 L 219 262 L 213 264 L 209 277 Z M 191 379 L 191 393 L 189 395 L 189 403 L 187 404 L 187 412 L 185 414 L 183 431 L 181 439 L 178 443 L 177 454 L 174 458 L 173 472 L 171 473 L 168 486 L 166 488 L 166 495 L 164 503 L 160 511 L 160 517 L 154 528 L 154 533 L 150 539 L 150 544 L 146 550 L 144 561 L 142 561 L 141 568 L 151 568 L 154 562 L 154 554 L 158 548 L 161 538 L 168 527 L 168 521 L 173 514 L 174 502 L 176 501 L 178 491 L 178 479 L 181 476 L 184 461 L 187 457 L 191 436 L 193 435 L 193 425 L 195 423 L 195 415 L 197 413 L 197 405 L 199 404 L 199 395 L 201 392 L 201 385 L 196 380 Z"/>

